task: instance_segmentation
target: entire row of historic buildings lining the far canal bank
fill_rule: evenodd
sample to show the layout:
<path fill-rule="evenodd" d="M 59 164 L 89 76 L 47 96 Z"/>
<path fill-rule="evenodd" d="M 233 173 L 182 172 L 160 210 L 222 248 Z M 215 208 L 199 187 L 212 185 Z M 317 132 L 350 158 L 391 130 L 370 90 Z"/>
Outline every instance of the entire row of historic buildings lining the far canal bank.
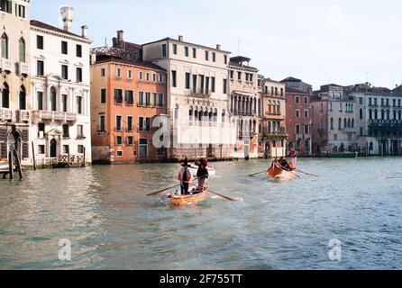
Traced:
<path fill-rule="evenodd" d="M 0 161 L 138 162 L 184 157 L 402 154 L 402 87 L 275 81 L 251 58 L 117 31 L 92 48 L 87 26 L 30 20 L 30 1 L 0 1 Z"/>

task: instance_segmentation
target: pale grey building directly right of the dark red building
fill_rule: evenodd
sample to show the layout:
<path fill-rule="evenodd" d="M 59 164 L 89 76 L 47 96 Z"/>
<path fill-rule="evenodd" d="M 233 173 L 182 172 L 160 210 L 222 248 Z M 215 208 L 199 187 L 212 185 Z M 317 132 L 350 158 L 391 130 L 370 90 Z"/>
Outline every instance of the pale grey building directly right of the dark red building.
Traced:
<path fill-rule="evenodd" d="M 315 155 L 357 151 L 356 103 L 341 85 L 323 85 L 315 91 L 313 107 L 313 153 Z"/>

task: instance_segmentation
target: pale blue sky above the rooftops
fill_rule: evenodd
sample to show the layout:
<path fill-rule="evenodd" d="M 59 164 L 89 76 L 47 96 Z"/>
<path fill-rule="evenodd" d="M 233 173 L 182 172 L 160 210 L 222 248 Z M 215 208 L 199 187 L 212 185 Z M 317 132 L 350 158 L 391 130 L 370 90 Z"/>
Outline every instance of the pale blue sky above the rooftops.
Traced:
<path fill-rule="evenodd" d="M 397 0 L 33 0 L 31 18 L 60 25 L 59 6 L 75 8 L 73 29 L 87 24 L 94 47 L 115 31 L 145 43 L 183 35 L 186 41 L 252 59 L 264 76 L 319 85 L 402 84 Z"/>

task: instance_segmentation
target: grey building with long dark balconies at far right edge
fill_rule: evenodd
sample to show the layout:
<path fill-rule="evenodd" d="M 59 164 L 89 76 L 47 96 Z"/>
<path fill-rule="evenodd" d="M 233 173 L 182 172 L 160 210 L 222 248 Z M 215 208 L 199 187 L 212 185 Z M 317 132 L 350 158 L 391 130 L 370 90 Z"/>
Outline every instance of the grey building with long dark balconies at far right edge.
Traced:
<path fill-rule="evenodd" d="M 402 94 L 368 84 L 348 87 L 356 99 L 361 155 L 402 155 Z"/>

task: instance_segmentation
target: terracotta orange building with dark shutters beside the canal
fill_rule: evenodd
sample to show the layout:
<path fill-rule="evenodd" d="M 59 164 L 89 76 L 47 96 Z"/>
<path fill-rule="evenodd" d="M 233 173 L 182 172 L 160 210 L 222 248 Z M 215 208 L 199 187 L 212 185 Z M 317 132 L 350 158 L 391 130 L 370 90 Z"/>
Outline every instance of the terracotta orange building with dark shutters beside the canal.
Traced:
<path fill-rule="evenodd" d="M 95 163 L 163 161 L 152 143 L 152 121 L 166 114 L 166 71 L 123 57 L 124 49 L 91 54 L 92 159 Z"/>

